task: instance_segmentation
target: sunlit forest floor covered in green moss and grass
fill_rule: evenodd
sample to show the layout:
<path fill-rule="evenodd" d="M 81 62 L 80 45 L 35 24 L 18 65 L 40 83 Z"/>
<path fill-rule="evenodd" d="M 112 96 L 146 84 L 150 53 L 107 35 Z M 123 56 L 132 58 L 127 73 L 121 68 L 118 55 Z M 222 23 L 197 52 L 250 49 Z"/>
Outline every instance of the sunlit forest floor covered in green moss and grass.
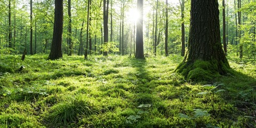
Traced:
<path fill-rule="evenodd" d="M 0 127 L 256 127 L 253 59 L 195 83 L 174 73 L 176 55 L 20 58 L 0 57 Z"/>

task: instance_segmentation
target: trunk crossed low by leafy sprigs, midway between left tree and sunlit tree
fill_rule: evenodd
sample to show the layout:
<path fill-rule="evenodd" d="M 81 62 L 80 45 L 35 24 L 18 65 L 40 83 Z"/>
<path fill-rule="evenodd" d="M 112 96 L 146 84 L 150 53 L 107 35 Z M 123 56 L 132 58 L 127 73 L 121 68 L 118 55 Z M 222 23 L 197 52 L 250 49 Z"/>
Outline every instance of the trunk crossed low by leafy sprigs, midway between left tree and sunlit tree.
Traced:
<path fill-rule="evenodd" d="M 104 29 L 104 44 L 108 43 L 108 8 L 109 0 L 103 0 L 103 29 Z M 103 51 L 103 55 L 108 55 L 108 52 Z"/>

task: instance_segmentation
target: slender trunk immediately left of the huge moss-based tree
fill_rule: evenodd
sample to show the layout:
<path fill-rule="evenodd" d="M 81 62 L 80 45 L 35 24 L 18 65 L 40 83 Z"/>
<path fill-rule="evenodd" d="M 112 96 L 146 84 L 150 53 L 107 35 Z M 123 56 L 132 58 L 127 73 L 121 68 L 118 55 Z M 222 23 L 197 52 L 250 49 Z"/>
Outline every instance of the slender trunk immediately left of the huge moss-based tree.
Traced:
<path fill-rule="evenodd" d="M 185 12 L 185 1 L 181 0 L 181 56 L 185 56 L 185 25 L 184 25 L 184 12 Z"/>

